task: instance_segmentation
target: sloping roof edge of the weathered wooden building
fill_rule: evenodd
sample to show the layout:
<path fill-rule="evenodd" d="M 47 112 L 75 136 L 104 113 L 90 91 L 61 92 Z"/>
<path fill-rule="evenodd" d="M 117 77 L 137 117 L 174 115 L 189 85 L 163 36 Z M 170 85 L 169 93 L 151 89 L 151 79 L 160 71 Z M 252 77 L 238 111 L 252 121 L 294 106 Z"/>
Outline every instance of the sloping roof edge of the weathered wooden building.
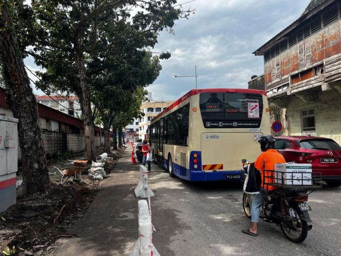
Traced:
<path fill-rule="evenodd" d="M 327 3 L 328 2 L 328 3 Z M 311 0 L 308 4 L 308 6 L 304 9 L 301 16 L 295 20 L 293 23 L 291 23 L 288 27 L 283 29 L 281 32 L 279 32 L 276 36 L 274 36 L 272 39 L 270 39 L 268 42 L 264 43 L 262 46 L 260 46 L 258 49 L 256 49 L 253 54 L 256 56 L 260 56 L 264 54 L 264 48 L 267 48 L 269 44 L 275 43 L 278 40 L 281 39 L 281 36 L 283 37 L 285 34 L 293 30 L 295 27 L 297 27 L 300 23 L 305 20 L 309 14 L 315 10 L 317 7 L 319 7 L 321 4 L 326 3 L 330 4 L 332 2 L 335 2 L 335 0 Z"/>

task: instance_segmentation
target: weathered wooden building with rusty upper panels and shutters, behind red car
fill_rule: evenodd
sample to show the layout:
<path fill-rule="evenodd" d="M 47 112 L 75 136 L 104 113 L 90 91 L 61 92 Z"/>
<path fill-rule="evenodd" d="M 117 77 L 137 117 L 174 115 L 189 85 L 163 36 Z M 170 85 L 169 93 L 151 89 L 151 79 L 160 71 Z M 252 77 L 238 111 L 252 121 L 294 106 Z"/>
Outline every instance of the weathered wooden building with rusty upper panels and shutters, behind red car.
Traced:
<path fill-rule="evenodd" d="M 265 89 L 282 134 L 341 143 L 341 0 L 311 0 L 254 54 L 264 56 Z M 259 79 L 249 86 L 253 81 Z"/>

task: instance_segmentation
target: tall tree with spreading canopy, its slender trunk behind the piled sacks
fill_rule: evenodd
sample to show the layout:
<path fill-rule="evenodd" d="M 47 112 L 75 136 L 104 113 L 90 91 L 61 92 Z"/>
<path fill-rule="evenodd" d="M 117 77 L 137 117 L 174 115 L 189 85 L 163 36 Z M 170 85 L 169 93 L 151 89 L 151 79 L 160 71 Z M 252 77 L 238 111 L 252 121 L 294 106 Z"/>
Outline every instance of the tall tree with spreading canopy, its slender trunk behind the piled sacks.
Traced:
<path fill-rule="evenodd" d="M 47 71 L 54 69 L 51 73 L 58 77 L 63 76 L 58 72 L 63 67 L 58 64 L 71 62 L 76 67 L 79 84 L 62 86 L 68 86 L 80 98 L 86 158 L 94 158 L 87 58 L 132 39 L 135 39 L 135 48 L 153 47 L 158 32 L 171 30 L 175 20 L 187 18 L 191 12 L 182 11 L 181 5 L 174 6 L 175 3 L 176 0 L 32 0 L 36 20 L 39 20 L 35 26 L 46 34 L 37 39 L 28 53 Z M 132 16 L 132 11 L 137 9 L 140 11 Z"/>

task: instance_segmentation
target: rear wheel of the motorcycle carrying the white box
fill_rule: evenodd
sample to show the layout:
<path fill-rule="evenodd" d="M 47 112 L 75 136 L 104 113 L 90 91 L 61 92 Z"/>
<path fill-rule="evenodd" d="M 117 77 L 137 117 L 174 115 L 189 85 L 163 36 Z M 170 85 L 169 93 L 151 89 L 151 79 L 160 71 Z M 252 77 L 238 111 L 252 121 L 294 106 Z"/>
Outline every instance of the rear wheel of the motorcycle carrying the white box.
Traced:
<path fill-rule="evenodd" d="M 305 220 L 301 219 L 299 216 L 300 211 L 298 209 L 293 208 L 294 213 L 296 215 L 296 221 L 292 221 L 292 225 L 296 227 L 296 230 L 291 227 L 286 227 L 286 225 L 281 222 L 280 227 L 283 234 L 294 243 L 301 243 L 305 240 L 308 235 L 308 224 Z M 288 215 L 289 209 L 287 209 Z M 296 235 L 295 235 L 296 234 Z"/>

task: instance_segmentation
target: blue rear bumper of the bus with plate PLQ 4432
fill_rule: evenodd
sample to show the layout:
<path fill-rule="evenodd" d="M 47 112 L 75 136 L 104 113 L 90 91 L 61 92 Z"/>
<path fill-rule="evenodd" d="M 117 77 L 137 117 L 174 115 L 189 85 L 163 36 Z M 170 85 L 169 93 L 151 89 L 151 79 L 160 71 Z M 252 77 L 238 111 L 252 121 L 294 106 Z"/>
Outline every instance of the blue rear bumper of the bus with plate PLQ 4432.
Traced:
<path fill-rule="evenodd" d="M 189 170 L 189 181 L 244 180 L 242 171 L 193 171 Z"/>

